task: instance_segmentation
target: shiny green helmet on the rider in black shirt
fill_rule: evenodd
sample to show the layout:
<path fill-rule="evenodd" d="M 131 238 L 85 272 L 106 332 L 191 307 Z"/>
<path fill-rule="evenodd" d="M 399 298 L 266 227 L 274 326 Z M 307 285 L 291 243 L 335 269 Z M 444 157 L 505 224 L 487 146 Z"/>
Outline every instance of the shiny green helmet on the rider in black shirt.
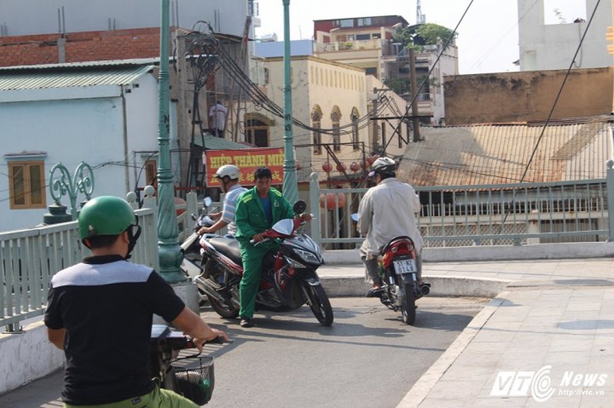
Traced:
<path fill-rule="evenodd" d="M 93 198 L 79 212 L 81 240 L 98 235 L 119 235 L 131 225 L 138 225 L 134 210 L 119 197 Z"/>

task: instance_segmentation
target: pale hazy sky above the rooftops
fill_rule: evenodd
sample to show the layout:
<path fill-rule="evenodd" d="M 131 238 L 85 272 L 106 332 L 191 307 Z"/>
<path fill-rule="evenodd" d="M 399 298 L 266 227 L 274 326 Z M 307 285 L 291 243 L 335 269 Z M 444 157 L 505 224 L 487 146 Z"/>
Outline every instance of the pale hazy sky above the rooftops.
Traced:
<path fill-rule="evenodd" d="M 275 33 L 278 40 L 283 40 L 282 0 L 257 1 L 261 26 L 256 35 Z M 470 3 L 471 0 L 421 0 L 421 9 L 427 23 L 454 29 Z M 400 15 L 408 23 L 416 23 L 416 0 L 290 0 L 289 10 L 290 40 L 311 39 L 313 20 Z M 588 20 L 586 0 L 544 0 L 544 10 L 548 24 L 571 23 L 577 17 Z M 457 33 L 461 74 L 518 71 L 513 64 L 519 59 L 516 0 L 473 0 Z"/>

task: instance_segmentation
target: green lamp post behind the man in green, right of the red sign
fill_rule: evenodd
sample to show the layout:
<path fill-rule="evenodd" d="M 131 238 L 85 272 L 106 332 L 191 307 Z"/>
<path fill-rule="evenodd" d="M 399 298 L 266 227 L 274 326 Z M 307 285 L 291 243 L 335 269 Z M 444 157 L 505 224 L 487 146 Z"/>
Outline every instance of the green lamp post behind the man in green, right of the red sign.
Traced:
<path fill-rule="evenodd" d="M 290 0 L 284 2 L 284 197 L 298 199 L 297 163 L 292 140 L 292 81 L 290 77 Z"/>

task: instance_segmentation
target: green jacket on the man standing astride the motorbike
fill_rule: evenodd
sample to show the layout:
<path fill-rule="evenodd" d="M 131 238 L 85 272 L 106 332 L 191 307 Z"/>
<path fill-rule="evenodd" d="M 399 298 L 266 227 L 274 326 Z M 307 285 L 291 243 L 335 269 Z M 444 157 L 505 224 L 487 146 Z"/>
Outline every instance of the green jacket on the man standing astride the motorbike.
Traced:
<path fill-rule="evenodd" d="M 246 244 L 255 234 L 263 233 L 277 221 L 294 217 L 292 206 L 279 190 L 271 187 L 269 198 L 273 210 L 273 223 L 269 223 L 266 219 L 265 210 L 255 187 L 245 191 L 236 200 L 235 223 L 238 228 L 236 239 L 241 244 Z"/>

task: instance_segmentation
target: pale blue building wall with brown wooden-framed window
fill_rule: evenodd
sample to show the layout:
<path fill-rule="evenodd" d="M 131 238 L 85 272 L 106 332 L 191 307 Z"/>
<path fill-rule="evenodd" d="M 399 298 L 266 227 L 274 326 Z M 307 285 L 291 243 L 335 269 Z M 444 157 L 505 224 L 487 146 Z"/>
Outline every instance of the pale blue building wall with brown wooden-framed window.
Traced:
<path fill-rule="evenodd" d="M 81 161 L 90 164 L 93 196 L 123 197 L 138 179 L 153 182 L 146 180 L 155 177 L 158 151 L 152 71 L 152 64 L 128 61 L 0 69 L 0 231 L 42 222 L 53 204 L 49 171 L 56 163 L 71 176 Z M 175 135 L 171 125 L 171 148 Z M 67 196 L 61 203 L 70 209 Z"/>

